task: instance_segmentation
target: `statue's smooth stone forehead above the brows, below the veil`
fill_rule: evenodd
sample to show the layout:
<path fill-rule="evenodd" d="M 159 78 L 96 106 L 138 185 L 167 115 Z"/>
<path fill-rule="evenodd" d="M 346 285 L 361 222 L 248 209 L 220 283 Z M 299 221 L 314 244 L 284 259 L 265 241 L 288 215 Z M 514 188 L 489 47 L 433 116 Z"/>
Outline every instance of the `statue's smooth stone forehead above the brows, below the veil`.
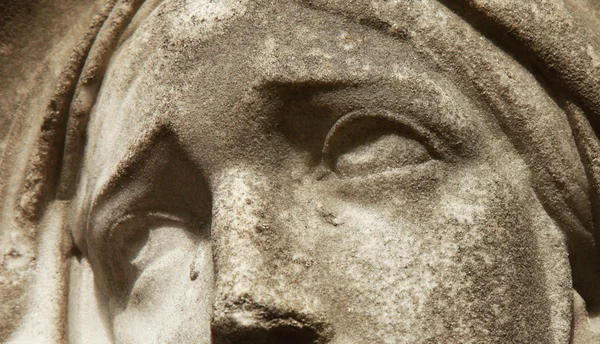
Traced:
<path fill-rule="evenodd" d="M 219 134 L 235 130 L 231 117 L 250 117 L 232 108 L 255 99 L 251 93 L 268 83 L 386 79 L 399 83 L 395 91 L 428 84 L 419 93 L 428 89 L 440 97 L 452 88 L 441 78 L 433 81 L 431 66 L 408 44 L 293 2 L 165 2 L 134 25 L 111 62 L 92 116 L 88 152 L 95 163 L 88 168 L 96 172 L 116 166 L 157 117 L 191 137 L 230 140 Z"/>

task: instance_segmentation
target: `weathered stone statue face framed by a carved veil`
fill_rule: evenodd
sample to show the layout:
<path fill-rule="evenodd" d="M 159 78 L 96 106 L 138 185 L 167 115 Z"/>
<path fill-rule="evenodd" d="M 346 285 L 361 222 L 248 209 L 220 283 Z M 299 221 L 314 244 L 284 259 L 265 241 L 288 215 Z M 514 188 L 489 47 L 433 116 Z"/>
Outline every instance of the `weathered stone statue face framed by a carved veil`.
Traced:
<path fill-rule="evenodd" d="M 568 337 L 561 231 L 463 85 L 341 16 L 190 6 L 136 24 L 88 130 L 73 232 L 117 342 Z"/>

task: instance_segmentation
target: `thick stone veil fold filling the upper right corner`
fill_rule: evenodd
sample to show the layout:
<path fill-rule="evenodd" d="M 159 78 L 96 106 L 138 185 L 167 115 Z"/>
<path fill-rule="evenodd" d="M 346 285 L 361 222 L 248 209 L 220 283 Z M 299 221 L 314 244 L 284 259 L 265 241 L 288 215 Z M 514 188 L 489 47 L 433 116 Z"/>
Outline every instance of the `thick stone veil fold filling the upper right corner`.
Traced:
<path fill-rule="evenodd" d="M 467 7 L 467 12 L 470 13 L 463 12 L 464 15 L 477 16 L 479 20 L 496 26 L 498 30 L 494 30 L 495 32 L 516 42 L 522 50 L 518 54 L 521 58 L 534 59 L 536 65 L 542 67 L 541 72 L 545 76 L 560 83 L 555 86 L 566 86 L 570 96 L 585 111 L 588 121 L 598 134 L 600 66 L 595 57 L 600 53 L 599 37 L 590 28 L 578 24 L 563 1 L 441 2 L 454 10 L 461 5 Z M 491 32 L 487 31 L 485 34 L 489 36 Z M 496 38 L 506 43 L 503 37 Z"/>

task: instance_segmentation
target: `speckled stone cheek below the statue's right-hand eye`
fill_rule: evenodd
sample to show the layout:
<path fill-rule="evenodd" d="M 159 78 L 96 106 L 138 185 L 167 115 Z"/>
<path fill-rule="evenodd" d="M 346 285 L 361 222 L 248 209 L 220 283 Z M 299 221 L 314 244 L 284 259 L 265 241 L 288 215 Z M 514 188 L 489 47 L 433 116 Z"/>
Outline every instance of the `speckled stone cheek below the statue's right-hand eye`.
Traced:
<path fill-rule="evenodd" d="M 321 249 L 336 281 L 327 298 L 346 310 L 348 328 L 391 342 L 546 336 L 530 192 L 489 171 L 457 175 L 418 209 L 405 191 L 326 211 L 338 222 Z"/>

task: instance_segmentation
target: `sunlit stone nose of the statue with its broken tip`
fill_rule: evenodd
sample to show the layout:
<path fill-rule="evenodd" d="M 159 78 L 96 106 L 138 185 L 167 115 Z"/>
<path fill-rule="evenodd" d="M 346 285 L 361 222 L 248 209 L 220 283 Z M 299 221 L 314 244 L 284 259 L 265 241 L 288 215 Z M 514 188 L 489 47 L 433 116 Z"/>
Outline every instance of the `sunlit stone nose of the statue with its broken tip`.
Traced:
<path fill-rule="evenodd" d="M 215 189 L 213 343 L 328 342 L 332 330 L 317 315 L 315 300 L 288 283 L 291 270 L 274 269 L 277 258 L 269 250 L 277 235 L 265 220 L 268 183 L 229 171 Z"/>

